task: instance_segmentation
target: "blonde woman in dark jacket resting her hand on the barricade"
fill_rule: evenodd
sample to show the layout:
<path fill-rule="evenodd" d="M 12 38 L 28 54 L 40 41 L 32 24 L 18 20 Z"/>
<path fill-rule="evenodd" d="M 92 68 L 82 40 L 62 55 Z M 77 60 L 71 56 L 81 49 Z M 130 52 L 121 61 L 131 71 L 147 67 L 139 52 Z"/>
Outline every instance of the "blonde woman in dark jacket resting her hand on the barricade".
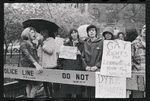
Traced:
<path fill-rule="evenodd" d="M 36 31 L 32 27 L 25 28 L 21 34 L 22 43 L 20 45 L 22 67 L 36 68 L 38 73 L 42 72 L 42 67 L 38 64 L 37 49 L 32 42 L 36 38 Z M 27 98 L 34 98 L 40 88 L 39 82 L 24 80 Z"/>

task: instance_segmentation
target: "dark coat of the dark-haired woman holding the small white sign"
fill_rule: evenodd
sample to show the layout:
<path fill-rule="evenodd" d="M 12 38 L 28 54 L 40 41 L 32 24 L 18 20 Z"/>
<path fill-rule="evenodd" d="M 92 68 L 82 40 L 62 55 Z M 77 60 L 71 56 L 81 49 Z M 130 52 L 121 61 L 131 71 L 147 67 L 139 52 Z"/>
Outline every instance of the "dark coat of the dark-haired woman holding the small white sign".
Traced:
<path fill-rule="evenodd" d="M 84 42 L 79 40 L 76 44 L 78 50 L 82 53 Z M 64 46 L 73 46 L 73 42 L 69 40 L 64 43 Z M 61 59 L 61 65 L 63 70 L 83 70 L 81 55 L 77 55 L 77 60 Z M 62 84 L 62 91 L 65 94 L 81 94 L 84 91 L 83 86 Z"/>

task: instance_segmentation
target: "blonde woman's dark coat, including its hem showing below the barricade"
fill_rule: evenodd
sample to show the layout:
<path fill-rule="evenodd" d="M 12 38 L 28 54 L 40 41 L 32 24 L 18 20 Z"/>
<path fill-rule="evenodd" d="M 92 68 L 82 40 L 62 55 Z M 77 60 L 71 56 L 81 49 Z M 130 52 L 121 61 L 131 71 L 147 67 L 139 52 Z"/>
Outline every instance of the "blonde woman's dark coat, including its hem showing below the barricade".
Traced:
<path fill-rule="evenodd" d="M 23 42 L 20 45 L 20 52 L 21 52 L 21 61 L 20 65 L 21 67 L 29 67 L 29 68 L 35 68 L 34 62 L 39 61 L 38 55 L 37 55 L 37 49 L 36 44 L 31 43 L 27 40 L 23 40 Z M 24 84 L 30 84 L 30 85 L 39 85 L 38 81 L 30 81 L 30 80 L 18 80 L 20 83 Z"/>

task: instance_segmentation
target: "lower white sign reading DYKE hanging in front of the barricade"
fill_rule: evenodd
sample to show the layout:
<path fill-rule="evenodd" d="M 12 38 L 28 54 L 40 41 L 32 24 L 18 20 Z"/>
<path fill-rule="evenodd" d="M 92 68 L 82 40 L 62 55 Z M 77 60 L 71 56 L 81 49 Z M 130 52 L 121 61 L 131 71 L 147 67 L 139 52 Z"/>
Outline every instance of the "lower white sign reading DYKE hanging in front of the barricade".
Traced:
<path fill-rule="evenodd" d="M 96 72 L 95 98 L 126 98 L 126 78 L 101 75 Z"/>

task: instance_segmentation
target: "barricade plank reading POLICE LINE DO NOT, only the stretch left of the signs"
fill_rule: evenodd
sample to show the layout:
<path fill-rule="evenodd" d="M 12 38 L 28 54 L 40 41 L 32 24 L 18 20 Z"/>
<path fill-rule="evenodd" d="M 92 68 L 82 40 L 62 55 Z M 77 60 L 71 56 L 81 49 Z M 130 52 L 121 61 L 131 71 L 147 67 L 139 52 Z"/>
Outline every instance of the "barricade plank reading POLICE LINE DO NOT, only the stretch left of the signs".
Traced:
<path fill-rule="evenodd" d="M 43 73 L 38 74 L 35 68 L 4 66 L 4 78 L 95 86 L 95 73 L 87 71 L 43 69 Z"/>

